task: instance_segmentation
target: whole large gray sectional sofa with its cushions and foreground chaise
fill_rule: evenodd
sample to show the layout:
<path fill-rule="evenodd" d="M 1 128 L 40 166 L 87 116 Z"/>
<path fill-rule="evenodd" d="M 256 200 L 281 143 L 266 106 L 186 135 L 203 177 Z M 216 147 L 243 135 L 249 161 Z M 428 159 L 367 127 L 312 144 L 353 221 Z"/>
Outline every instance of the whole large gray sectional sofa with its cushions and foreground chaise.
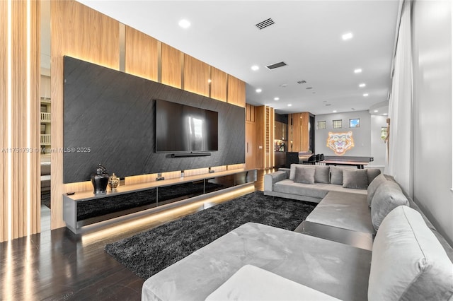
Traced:
<path fill-rule="evenodd" d="M 241 225 L 151 276 L 142 300 L 453 300 L 453 249 L 394 179 L 327 168 L 328 182 L 325 166 L 265 175 L 265 194 L 319 202 L 295 231 Z"/>

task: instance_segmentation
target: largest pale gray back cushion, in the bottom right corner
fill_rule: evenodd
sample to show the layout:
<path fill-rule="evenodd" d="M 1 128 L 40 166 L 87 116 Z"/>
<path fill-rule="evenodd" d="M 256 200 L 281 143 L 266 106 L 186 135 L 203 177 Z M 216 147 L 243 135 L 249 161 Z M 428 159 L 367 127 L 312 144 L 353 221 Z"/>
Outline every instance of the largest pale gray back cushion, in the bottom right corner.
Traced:
<path fill-rule="evenodd" d="M 453 264 L 420 213 L 398 206 L 374 239 L 368 300 L 451 300 Z"/>

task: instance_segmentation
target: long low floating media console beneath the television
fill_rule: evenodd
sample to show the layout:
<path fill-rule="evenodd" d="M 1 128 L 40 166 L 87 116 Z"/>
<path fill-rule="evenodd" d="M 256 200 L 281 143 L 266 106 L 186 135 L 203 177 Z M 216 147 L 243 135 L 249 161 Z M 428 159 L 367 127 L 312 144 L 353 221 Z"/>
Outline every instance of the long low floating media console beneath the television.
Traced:
<path fill-rule="evenodd" d="M 256 182 L 256 170 L 228 170 L 143 184 L 120 186 L 117 191 L 63 195 L 63 220 L 79 234 L 121 220 L 180 206 Z"/>

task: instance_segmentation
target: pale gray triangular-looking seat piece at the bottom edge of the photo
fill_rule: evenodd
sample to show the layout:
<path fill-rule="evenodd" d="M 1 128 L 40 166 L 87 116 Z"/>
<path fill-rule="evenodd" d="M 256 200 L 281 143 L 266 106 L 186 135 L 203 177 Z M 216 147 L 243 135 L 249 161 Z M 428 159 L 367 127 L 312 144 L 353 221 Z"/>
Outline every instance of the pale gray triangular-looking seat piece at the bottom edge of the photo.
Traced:
<path fill-rule="evenodd" d="M 263 268 L 246 264 L 205 300 L 327 301 L 338 299 Z"/>

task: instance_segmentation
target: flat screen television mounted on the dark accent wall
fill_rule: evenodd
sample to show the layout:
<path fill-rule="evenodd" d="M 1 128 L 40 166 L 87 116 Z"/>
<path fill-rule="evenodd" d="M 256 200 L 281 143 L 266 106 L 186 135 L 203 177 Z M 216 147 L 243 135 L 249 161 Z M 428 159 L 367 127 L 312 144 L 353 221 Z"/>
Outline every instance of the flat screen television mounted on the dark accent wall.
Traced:
<path fill-rule="evenodd" d="M 156 153 L 218 151 L 219 113 L 156 100 Z"/>

